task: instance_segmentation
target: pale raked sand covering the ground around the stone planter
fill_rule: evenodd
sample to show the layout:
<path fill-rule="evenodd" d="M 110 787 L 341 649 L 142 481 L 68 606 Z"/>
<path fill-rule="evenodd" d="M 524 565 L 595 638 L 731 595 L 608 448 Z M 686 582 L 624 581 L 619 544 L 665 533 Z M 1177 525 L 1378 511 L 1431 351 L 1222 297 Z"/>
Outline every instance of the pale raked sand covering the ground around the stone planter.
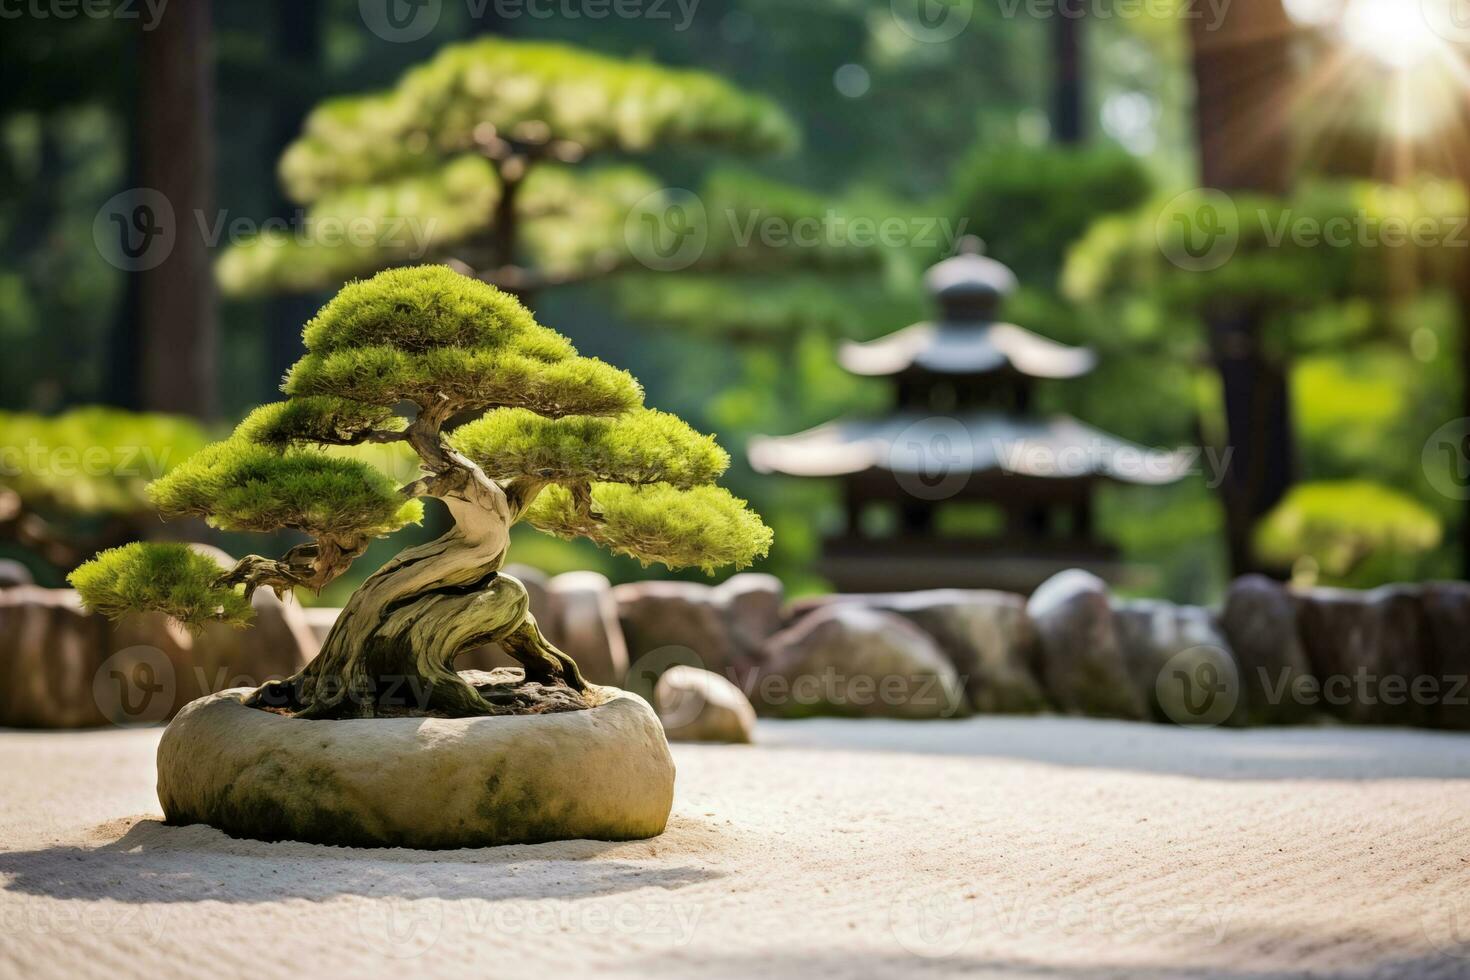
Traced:
<path fill-rule="evenodd" d="M 761 723 L 453 852 L 165 827 L 157 738 L 0 732 L 0 977 L 1470 977 L 1470 736 Z"/>

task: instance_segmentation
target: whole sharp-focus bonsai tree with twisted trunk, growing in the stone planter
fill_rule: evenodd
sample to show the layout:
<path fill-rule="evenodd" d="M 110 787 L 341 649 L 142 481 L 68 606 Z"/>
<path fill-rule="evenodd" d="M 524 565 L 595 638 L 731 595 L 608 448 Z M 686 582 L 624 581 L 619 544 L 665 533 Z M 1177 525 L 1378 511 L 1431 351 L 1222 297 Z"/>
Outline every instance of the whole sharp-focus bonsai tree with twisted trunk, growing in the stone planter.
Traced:
<path fill-rule="evenodd" d="M 578 356 L 494 287 L 442 266 L 388 270 L 344 287 L 304 341 L 287 401 L 256 408 L 148 492 L 165 516 L 309 541 L 232 569 L 184 545 L 134 544 L 72 574 L 109 616 L 244 623 L 254 589 L 320 589 L 372 538 L 417 522 L 423 498 L 442 501 L 450 530 L 370 574 L 320 654 L 248 704 L 309 718 L 582 707 L 576 664 L 501 572 L 513 525 L 670 569 L 745 566 L 770 547 L 760 517 L 713 485 L 729 458 L 710 436 L 644 407 L 631 375 Z M 407 444 L 422 476 L 397 486 L 331 448 L 369 442 Z M 520 661 L 525 679 L 476 688 L 457 674 L 454 658 L 485 642 Z"/>

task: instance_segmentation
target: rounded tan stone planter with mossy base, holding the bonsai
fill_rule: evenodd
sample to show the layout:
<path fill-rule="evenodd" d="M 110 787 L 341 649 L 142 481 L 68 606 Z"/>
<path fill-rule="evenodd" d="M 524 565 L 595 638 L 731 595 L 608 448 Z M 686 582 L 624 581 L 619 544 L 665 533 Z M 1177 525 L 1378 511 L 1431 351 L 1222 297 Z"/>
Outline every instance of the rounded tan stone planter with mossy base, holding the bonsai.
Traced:
<path fill-rule="evenodd" d="M 169 823 L 263 840 L 481 848 L 663 833 L 673 758 L 657 716 L 610 688 L 578 711 L 315 721 L 194 701 L 159 742 Z"/>

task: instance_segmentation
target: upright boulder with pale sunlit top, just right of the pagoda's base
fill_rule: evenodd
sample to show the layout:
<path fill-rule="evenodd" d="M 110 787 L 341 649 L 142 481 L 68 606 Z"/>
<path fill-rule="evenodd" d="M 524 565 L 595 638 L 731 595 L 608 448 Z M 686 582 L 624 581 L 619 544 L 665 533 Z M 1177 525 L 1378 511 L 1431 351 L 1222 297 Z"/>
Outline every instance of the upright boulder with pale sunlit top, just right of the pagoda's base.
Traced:
<path fill-rule="evenodd" d="M 1026 613 L 1041 639 L 1042 683 L 1054 705 L 1104 718 L 1145 717 L 1100 577 L 1060 572 L 1036 589 Z"/>

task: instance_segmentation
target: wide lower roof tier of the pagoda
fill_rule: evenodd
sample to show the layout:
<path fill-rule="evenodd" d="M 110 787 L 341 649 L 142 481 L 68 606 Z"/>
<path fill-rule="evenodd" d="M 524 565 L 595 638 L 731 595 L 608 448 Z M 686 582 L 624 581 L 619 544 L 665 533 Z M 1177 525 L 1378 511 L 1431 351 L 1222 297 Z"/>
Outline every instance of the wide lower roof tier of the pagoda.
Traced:
<path fill-rule="evenodd" d="M 1004 472 L 1036 479 L 1108 479 L 1160 486 L 1182 479 L 1186 451 L 1161 453 L 1072 419 L 1020 419 L 997 411 L 935 416 L 903 411 L 836 420 L 786 436 L 751 439 L 751 466 L 785 476 L 853 476 L 872 470 L 928 475 L 922 447 L 944 447 L 950 472 Z M 966 451 L 969 450 L 969 451 Z"/>

